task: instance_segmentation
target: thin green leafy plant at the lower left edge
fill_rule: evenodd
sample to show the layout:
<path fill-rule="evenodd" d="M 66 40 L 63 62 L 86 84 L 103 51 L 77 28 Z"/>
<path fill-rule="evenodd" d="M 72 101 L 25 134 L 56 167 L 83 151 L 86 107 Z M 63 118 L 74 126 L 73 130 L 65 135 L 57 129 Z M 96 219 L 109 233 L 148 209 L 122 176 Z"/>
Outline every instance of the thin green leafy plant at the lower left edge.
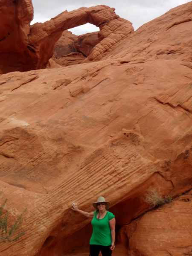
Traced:
<path fill-rule="evenodd" d="M 4 189 L 4 188 L 3 188 Z M 1 189 L 0 194 L 3 192 Z M 15 236 L 15 232 L 19 229 L 20 224 L 23 222 L 22 216 L 26 212 L 26 209 L 19 215 L 13 226 L 8 230 L 9 224 L 7 223 L 8 214 L 3 213 L 3 209 L 6 205 L 7 199 L 4 201 L 3 205 L 0 207 L 0 243 L 17 241 L 21 236 L 25 234 L 25 232 L 17 233 Z"/>

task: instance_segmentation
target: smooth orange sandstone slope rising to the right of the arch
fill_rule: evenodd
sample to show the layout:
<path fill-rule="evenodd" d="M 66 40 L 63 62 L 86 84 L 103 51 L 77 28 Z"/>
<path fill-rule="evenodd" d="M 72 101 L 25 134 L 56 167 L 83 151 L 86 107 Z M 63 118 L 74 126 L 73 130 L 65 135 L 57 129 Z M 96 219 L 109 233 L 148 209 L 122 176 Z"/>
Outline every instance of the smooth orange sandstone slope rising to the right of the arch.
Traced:
<path fill-rule="evenodd" d="M 141 26 L 105 58 L 124 58 L 125 63 L 133 64 L 150 60 L 180 60 L 183 65 L 191 67 L 191 24 L 189 2 Z"/>

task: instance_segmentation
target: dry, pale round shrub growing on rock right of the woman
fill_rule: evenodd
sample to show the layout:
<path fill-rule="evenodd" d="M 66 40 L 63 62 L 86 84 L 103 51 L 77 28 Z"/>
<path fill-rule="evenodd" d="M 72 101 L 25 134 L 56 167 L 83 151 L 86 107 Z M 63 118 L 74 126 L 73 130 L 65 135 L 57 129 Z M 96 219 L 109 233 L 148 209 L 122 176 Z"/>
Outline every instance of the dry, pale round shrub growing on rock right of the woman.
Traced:
<path fill-rule="evenodd" d="M 145 198 L 143 199 L 147 204 L 150 204 L 150 208 L 160 206 L 163 204 L 169 204 L 172 201 L 171 197 L 165 196 L 165 198 L 162 197 L 162 194 L 160 192 L 160 188 L 157 191 L 156 188 L 150 187 L 145 194 Z"/>

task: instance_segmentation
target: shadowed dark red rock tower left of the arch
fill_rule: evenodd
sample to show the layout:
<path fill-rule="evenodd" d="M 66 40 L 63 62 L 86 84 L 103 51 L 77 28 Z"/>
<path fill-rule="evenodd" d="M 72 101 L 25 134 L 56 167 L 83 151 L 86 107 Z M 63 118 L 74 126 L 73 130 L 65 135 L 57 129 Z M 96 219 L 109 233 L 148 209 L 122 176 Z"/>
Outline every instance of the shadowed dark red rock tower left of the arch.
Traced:
<path fill-rule="evenodd" d="M 28 40 L 31 0 L 0 0 L 0 13 L 0 74 L 34 69 Z"/>

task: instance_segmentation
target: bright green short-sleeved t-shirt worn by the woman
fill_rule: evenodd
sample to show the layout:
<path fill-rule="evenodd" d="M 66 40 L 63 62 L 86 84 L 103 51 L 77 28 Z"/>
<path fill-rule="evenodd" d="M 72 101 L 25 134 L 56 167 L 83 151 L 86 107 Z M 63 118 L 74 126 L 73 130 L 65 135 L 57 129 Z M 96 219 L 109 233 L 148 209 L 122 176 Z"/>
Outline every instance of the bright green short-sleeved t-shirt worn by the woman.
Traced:
<path fill-rule="evenodd" d="M 94 217 L 91 221 L 93 226 L 93 234 L 90 238 L 90 244 L 98 244 L 109 246 L 111 245 L 111 228 L 109 221 L 115 216 L 111 212 L 107 212 L 105 217 L 99 219 L 96 217 L 98 211 L 94 212 Z"/>

